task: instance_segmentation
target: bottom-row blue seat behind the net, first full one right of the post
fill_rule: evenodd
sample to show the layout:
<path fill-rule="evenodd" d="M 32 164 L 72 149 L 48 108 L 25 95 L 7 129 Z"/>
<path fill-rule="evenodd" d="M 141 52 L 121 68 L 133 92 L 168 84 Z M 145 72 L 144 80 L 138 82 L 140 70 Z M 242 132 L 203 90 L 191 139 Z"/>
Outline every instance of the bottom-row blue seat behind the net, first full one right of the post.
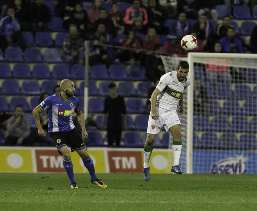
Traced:
<path fill-rule="evenodd" d="M 212 132 L 202 133 L 200 145 L 201 148 L 205 149 L 217 149 L 219 146 L 217 134 Z"/>

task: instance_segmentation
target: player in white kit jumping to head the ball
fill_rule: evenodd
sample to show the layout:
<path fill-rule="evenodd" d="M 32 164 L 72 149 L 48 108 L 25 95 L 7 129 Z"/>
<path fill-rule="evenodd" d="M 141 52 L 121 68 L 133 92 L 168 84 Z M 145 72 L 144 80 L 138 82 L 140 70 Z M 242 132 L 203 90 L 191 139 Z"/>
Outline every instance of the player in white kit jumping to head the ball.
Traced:
<path fill-rule="evenodd" d="M 150 179 L 149 160 L 153 150 L 153 143 L 163 126 L 165 130 L 170 131 L 173 136 L 173 166 L 171 172 L 182 174 L 180 170 L 179 159 L 182 149 L 180 120 L 177 115 L 177 104 L 179 104 L 178 113 L 183 114 L 183 93 L 186 87 L 190 85 L 190 79 L 187 77 L 189 64 L 186 61 L 180 61 L 177 71 L 172 71 L 161 76 L 159 83 L 151 96 L 151 112 L 148 120 L 147 137 L 144 146 L 144 179 Z"/>

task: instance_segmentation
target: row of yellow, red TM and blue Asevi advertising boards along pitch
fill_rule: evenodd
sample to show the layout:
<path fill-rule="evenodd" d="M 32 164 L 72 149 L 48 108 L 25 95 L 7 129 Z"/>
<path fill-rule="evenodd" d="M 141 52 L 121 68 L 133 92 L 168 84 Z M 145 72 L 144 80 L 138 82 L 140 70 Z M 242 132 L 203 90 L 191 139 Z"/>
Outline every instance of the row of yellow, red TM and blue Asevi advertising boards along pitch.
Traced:
<path fill-rule="evenodd" d="M 88 153 L 97 173 L 142 173 L 141 148 L 90 147 Z M 63 157 L 55 147 L 0 147 L 0 172 L 65 172 Z M 75 173 L 88 173 L 77 153 L 71 153 Z M 199 166 L 201 160 L 204 166 Z M 257 150 L 193 150 L 193 173 L 257 174 Z M 154 149 L 151 173 L 170 173 L 173 154 Z"/>

